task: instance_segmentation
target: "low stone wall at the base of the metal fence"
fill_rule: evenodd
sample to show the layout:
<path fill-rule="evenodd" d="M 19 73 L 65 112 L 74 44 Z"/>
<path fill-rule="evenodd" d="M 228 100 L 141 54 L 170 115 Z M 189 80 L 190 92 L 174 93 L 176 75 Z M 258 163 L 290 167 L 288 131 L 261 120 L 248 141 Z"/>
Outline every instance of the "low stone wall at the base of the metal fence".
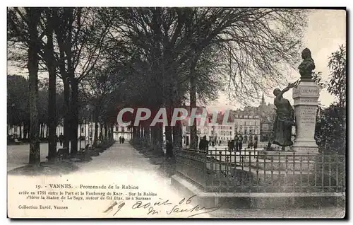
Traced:
<path fill-rule="evenodd" d="M 181 175 L 172 176 L 172 185 L 185 197 L 196 195 L 201 206 L 237 209 L 283 209 L 288 207 L 345 207 L 345 193 L 335 192 L 203 192 Z"/>

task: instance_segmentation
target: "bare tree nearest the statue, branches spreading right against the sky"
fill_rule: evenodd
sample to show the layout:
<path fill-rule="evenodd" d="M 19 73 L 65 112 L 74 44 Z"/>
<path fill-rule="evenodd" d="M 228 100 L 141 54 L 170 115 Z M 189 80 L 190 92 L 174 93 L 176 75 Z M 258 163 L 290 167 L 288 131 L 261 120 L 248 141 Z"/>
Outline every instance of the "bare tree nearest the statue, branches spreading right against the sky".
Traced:
<path fill-rule="evenodd" d="M 196 107 L 196 71 L 200 55 L 213 45 L 229 62 L 229 96 L 239 102 L 279 83 L 284 66 L 299 59 L 305 11 L 284 8 L 198 8 L 191 12 L 191 108 Z M 196 126 L 191 127 L 196 146 Z"/>

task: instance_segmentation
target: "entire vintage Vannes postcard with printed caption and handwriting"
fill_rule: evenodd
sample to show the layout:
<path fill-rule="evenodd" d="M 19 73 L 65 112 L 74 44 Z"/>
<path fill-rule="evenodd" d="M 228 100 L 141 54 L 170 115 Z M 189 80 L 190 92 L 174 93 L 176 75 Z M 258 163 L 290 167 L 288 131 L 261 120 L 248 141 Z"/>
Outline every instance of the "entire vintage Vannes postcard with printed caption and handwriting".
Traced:
<path fill-rule="evenodd" d="M 8 217 L 344 218 L 346 20 L 8 7 Z"/>

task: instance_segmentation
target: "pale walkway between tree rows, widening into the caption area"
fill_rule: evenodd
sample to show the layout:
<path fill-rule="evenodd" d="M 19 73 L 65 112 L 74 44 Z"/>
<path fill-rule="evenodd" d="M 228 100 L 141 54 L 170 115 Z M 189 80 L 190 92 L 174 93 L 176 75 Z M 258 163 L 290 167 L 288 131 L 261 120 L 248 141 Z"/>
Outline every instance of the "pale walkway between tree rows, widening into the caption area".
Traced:
<path fill-rule="evenodd" d="M 186 202 L 191 196 L 181 196 L 170 185 L 170 179 L 164 179 L 157 172 L 158 166 L 149 163 L 148 158 L 144 158 L 142 154 L 133 149 L 133 147 L 126 144 L 116 143 L 100 156 L 93 157 L 93 160 L 88 163 L 78 163 L 80 170 L 69 175 L 61 175 L 60 177 L 42 177 L 42 178 L 24 178 L 21 176 L 8 176 L 9 189 L 13 192 L 23 191 L 14 183 L 25 183 L 26 187 L 35 187 L 35 185 L 46 185 L 47 192 L 56 191 L 49 188 L 49 183 L 68 183 L 73 185 L 72 192 L 115 192 L 116 197 L 123 197 L 124 200 L 116 200 L 114 209 L 107 213 L 104 210 L 110 205 L 114 204 L 114 200 L 64 200 L 62 202 L 56 200 L 52 203 L 61 203 L 63 206 L 68 206 L 68 210 L 50 210 L 46 215 L 48 217 L 190 217 L 193 214 L 198 214 L 196 217 L 208 217 L 208 214 L 199 214 L 206 212 L 201 209 L 203 206 L 198 205 L 196 200 L 191 199 Z M 81 186 L 83 185 L 83 186 Z M 105 185 L 107 189 L 87 189 L 90 185 Z M 109 189 L 108 186 L 112 185 L 114 189 Z M 119 187 L 119 189 L 116 189 Z M 130 188 L 130 189 L 124 189 Z M 135 189 L 134 189 L 135 188 Z M 138 189 L 137 189 L 138 188 Z M 34 189 L 34 188 L 33 188 Z M 61 190 L 62 191 L 62 190 Z M 137 196 L 140 192 L 140 196 Z M 148 196 L 144 195 L 144 192 Z M 113 193 L 114 195 L 114 193 Z M 126 200 L 126 197 L 134 197 L 134 200 Z M 78 195 L 79 196 L 79 195 Z M 85 194 L 84 197 L 87 195 Z M 143 200 L 142 204 L 137 209 L 132 209 L 133 205 L 138 202 L 136 197 L 148 197 L 151 200 Z M 186 197 L 184 201 L 183 198 Z M 20 201 L 20 200 L 18 200 Z M 45 204 L 48 204 L 46 201 Z M 115 215 L 118 207 L 123 204 L 119 212 Z M 163 204 L 164 202 L 164 204 Z M 179 204 L 179 202 L 181 204 Z M 188 204 L 186 204 L 188 203 Z M 22 203 L 23 204 L 23 203 Z M 44 202 L 43 202 L 44 204 Z M 135 208 L 138 204 L 135 204 Z M 152 206 L 152 207 L 151 207 Z M 195 208 L 196 209 L 193 209 Z M 15 207 L 16 208 L 16 207 Z M 174 210 L 173 210 L 174 209 Z M 184 209 L 185 212 L 180 212 Z M 187 210 L 186 210 L 187 209 Z M 193 209 L 193 210 L 192 210 Z M 21 209 L 13 209 L 20 211 Z M 28 209 L 30 210 L 30 209 Z M 30 210 L 31 216 L 43 216 L 44 210 Z M 49 209 L 48 209 L 49 210 Z M 210 211 L 212 209 L 208 209 Z M 23 211 L 23 209 L 22 209 Z M 192 212 L 187 212 L 192 211 Z M 150 215 L 155 212 L 155 215 Z M 19 213 L 19 212 L 18 212 Z M 23 213 L 23 212 L 22 212 Z M 29 214 L 29 212 L 26 212 Z"/>

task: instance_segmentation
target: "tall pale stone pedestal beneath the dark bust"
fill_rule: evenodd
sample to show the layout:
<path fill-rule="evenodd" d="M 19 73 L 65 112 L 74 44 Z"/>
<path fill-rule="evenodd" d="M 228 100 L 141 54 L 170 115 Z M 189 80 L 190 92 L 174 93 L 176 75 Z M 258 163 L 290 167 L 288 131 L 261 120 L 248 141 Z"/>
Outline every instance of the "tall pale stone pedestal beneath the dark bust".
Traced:
<path fill-rule="evenodd" d="M 296 154 L 318 154 L 314 134 L 320 88 L 311 80 L 301 80 L 293 88 L 296 138 L 293 150 Z"/>

